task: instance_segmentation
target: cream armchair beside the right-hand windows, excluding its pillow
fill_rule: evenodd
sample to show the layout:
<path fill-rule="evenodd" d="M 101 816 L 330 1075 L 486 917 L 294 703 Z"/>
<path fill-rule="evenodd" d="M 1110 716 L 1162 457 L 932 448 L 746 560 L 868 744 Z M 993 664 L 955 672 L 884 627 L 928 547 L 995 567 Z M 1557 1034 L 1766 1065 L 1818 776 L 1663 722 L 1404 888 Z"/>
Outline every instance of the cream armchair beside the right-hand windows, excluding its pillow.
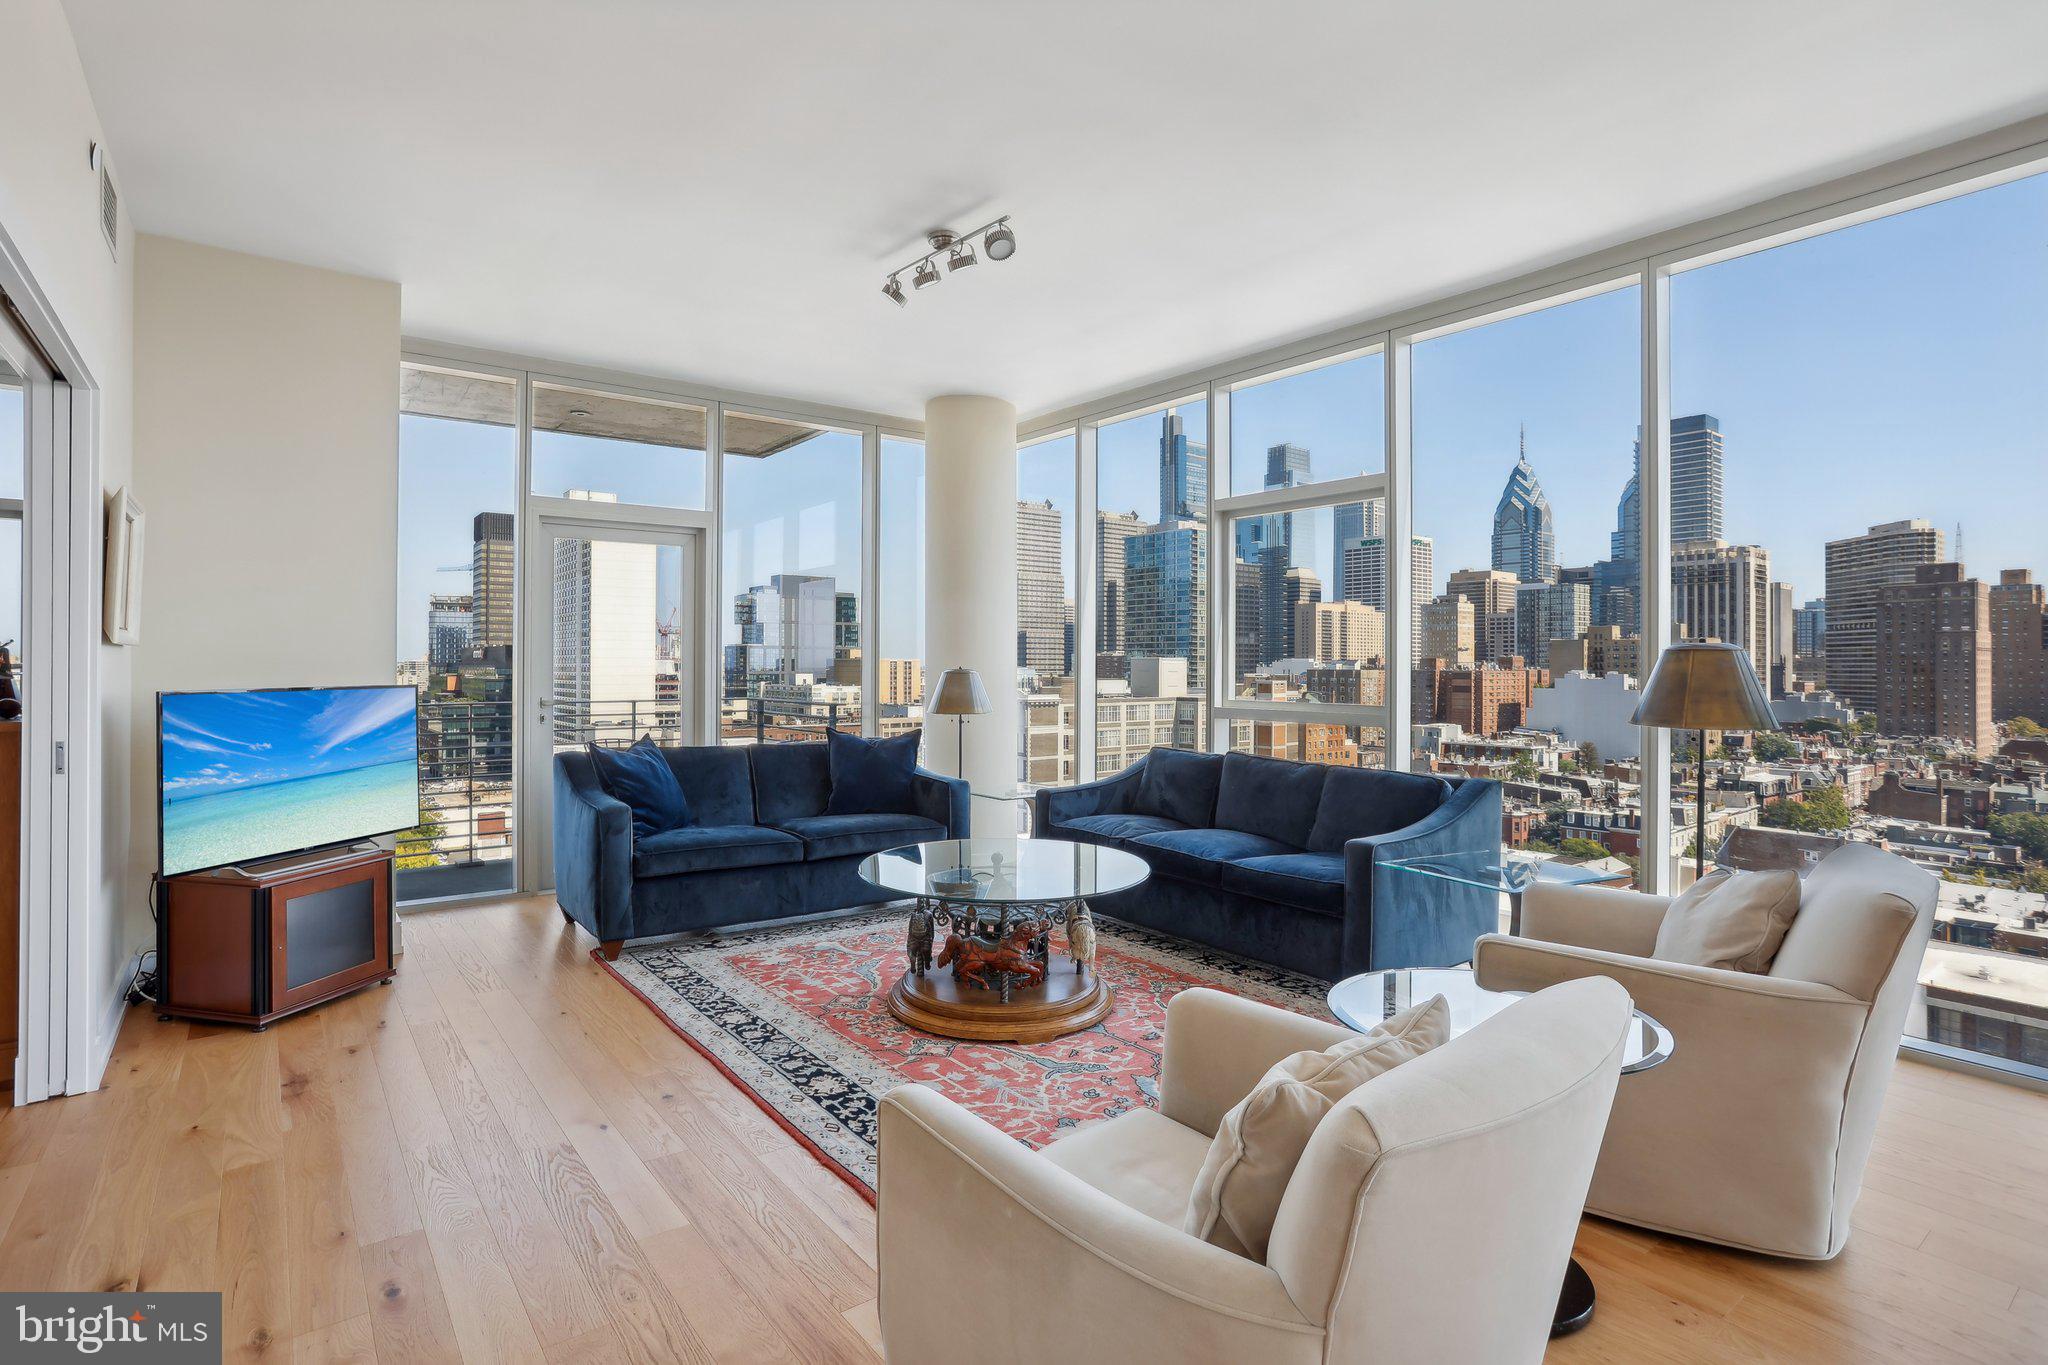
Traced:
<path fill-rule="evenodd" d="M 1614 1101 L 1589 1214 L 1774 1257 L 1849 1238 L 1937 882 L 1868 845 L 1829 853 L 1763 976 L 1651 958 L 1669 900 L 1538 882 L 1522 937 L 1479 939 L 1489 990 L 1608 976 L 1671 1029 Z"/>

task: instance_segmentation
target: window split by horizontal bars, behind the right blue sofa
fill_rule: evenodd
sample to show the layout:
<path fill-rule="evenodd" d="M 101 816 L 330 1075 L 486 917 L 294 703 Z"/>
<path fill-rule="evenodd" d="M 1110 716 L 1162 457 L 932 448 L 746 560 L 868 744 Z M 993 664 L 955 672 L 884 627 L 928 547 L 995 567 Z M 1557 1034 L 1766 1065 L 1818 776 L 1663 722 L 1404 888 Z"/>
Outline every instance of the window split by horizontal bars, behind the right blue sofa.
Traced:
<path fill-rule="evenodd" d="M 1343 356 L 1231 391 L 1231 495 L 1313 489 L 1386 469 L 1384 358 Z M 1386 497 L 1231 516 L 1231 702 L 1386 706 Z M 1384 724 L 1229 716 L 1239 753 L 1378 767 Z"/>

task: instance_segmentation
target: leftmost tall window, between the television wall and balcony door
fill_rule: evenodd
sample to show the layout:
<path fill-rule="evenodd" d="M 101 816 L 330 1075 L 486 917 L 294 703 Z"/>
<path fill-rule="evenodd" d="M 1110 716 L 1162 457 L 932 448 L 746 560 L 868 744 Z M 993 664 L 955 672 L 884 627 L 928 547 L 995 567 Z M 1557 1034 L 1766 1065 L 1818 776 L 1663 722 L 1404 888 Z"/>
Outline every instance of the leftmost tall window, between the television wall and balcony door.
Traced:
<path fill-rule="evenodd" d="M 518 383 L 399 368 L 397 679 L 420 690 L 403 900 L 514 886 Z"/>

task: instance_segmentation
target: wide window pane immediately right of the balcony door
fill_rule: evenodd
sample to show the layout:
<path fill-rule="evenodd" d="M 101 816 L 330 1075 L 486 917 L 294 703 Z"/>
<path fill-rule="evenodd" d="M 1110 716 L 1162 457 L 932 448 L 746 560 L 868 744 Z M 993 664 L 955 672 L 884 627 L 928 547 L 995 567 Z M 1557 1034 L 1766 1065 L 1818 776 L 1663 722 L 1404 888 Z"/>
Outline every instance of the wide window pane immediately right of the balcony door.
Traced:
<path fill-rule="evenodd" d="M 860 731 L 860 434 L 725 411 L 725 743 Z"/>

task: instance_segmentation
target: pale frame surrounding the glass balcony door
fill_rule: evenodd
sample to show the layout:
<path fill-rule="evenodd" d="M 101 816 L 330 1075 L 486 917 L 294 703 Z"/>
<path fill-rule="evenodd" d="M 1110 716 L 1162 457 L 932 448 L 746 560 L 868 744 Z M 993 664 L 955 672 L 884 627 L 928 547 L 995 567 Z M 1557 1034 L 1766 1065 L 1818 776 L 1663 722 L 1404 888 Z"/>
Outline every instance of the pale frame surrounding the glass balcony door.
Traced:
<path fill-rule="evenodd" d="M 518 800 L 512 812 L 522 892 L 555 890 L 553 806 L 555 741 L 549 718 L 555 653 L 555 557 L 557 536 L 586 540 L 627 540 L 672 544 L 682 551 L 682 596 L 678 630 L 690 647 L 678 659 L 682 681 L 684 737 L 692 745 L 715 743 L 711 653 L 705 628 L 711 620 L 709 546 L 717 518 L 711 512 L 649 508 L 639 503 L 592 503 L 571 497 L 528 495 L 520 512 L 518 616 L 520 651 L 512 686 L 518 720 L 512 743 L 520 753 Z"/>

